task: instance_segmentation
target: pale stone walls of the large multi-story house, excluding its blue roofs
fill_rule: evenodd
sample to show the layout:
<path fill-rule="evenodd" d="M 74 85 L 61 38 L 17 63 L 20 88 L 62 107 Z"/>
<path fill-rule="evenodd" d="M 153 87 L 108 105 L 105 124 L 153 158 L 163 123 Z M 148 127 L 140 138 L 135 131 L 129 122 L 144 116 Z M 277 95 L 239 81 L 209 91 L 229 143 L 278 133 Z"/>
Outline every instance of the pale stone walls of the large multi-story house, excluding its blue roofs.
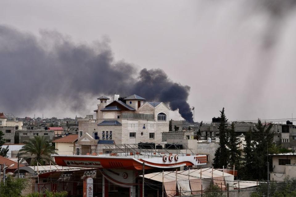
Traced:
<path fill-rule="evenodd" d="M 97 118 L 79 119 L 79 132 L 83 134 L 88 133 L 93 138 L 97 136 L 97 140 L 100 140 L 102 143 L 104 142 L 102 140 L 106 140 L 103 139 L 103 133 L 110 133 L 110 131 L 112 131 L 112 139 L 108 138 L 108 140 L 113 140 L 115 144 L 161 143 L 162 133 L 169 131 L 170 109 L 162 102 L 158 103 L 157 106 L 152 106 L 147 102 L 144 103 L 143 100 L 136 99 L 126 100 L 125 102 L 128 105 L 127 107 L 121 102 L 113 101 L 108 103 L 108 99 L 100 99 L 97 110 L 95 110 Z M 117 107 L 117 110 L 106 110 L 104 109 L 106 106 Z M 129 106 L 132 108 L 128 108 Z M 165 114 L 166 120 L 158 120 L 159 113 Z M 128 118 L 122 118 L 123 114 Z M 139 117 L 146 117 L 148 119 L 139 119 Z M 105 120 L 118 121 L 121 125 L 98 125 Z"/>

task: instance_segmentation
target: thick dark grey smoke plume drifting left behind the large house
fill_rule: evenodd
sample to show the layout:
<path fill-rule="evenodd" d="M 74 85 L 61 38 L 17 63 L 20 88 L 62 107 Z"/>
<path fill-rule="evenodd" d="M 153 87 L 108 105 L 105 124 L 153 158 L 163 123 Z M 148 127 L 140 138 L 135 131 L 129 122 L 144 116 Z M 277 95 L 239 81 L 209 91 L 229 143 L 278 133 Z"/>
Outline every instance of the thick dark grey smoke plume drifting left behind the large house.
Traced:
<path fill-rule="evenodd" d="M 108 39 L 77 44 L 56 31 L 40 36 L 0 25 L 0 111 L 31 112 L 59 105 L 83 111 L 86 99 L 119 93 L 162 101 L 192 122 L 190 87 L 173 82 L 161 69 L 115 61 Z"/>

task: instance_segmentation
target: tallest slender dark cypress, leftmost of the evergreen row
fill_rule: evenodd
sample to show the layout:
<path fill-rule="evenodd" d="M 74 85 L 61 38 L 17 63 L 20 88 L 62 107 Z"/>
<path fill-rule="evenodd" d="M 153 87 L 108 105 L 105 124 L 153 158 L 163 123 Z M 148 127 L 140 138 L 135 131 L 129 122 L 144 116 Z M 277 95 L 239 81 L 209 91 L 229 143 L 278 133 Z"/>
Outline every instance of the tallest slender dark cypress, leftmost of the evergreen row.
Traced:
<path fill-rule="evenodd" d="M 228 119 L 226 119 L 224 108 L 222 108 L 222 111 L 220 111 L 220 115 L 221 115 L 221 121 L 218 127 L 220 142 L 219 142 L 219 147 L 215 152 L 215 158 L 213 162 L 213 166 L 215 168 L 221 168 L 223 166 L 226 167 L 228 164 L 228 155 L 229 155 L 229 151 L 227 149 L 228 136 L 226 136 L 228 133 L 228 129 L 227 129 Z"/>

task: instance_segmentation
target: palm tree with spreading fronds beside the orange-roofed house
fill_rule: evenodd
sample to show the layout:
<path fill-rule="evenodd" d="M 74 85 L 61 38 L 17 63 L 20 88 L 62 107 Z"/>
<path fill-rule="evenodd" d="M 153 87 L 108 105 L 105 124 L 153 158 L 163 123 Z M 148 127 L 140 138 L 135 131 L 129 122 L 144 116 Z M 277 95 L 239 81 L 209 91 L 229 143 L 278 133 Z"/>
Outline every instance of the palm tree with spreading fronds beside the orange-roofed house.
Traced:
<path fill-rule="evenodd" d="M 25 142 L 23 148 L 19 151 L 20 157 L 26 160 L 31 165 L 37 165 L 37 162 L 41 165 L 54 162 L 50 155 L 57 154 L 55 146 L 51 145 L 50 141 L 44 136 L 34 136 L 34 139 L 30 139 L 29 142 Z"/>

